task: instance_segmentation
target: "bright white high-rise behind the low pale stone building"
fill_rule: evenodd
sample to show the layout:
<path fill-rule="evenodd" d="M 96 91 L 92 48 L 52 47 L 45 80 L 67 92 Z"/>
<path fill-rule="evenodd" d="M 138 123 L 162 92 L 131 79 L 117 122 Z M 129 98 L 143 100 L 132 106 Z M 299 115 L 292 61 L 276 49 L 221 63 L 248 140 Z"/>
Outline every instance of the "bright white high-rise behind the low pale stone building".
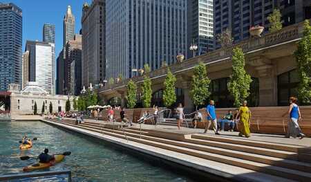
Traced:
<path fill-rule="evenodd" d="M 50 94 L 55 94 L 55 44 L 48 42 L 27 41 L 29 51 L 29 82 Z"/>

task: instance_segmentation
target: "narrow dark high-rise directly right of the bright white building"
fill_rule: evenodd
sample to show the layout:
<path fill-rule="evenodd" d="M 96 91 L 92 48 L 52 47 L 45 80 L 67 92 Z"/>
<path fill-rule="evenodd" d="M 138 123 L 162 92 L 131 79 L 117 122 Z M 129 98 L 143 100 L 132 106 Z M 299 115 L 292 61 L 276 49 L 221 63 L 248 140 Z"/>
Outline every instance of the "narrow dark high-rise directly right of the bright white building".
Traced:
<path fill-rule="evenodd" d="M 64 95 L 64 51 L 59 53 L 56 64 L 56 93 Z"/>

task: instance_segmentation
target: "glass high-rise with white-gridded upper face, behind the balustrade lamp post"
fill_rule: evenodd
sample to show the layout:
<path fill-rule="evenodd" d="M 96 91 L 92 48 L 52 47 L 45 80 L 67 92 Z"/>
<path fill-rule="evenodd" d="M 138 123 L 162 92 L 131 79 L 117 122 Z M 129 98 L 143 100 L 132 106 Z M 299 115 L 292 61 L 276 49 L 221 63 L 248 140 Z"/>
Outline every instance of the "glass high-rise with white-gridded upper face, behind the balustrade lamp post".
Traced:
<path fill-rule="evenodd" d="M 196 44 L 198 50 L 196 55 L 214 50 L 214 9 L 213 0 L 188 0 L 187 1 L 188 21 L 188 48 Z M 188 57 L 193 53 L 189 50 Z"/>

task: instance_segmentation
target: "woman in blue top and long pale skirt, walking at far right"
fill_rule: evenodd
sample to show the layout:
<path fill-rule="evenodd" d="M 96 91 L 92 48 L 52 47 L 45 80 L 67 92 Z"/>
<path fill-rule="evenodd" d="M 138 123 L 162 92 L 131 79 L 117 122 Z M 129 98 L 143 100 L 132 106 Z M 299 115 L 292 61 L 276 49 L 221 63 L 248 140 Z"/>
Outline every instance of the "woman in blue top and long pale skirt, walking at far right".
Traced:
<path fill-rule="evenodd" d="M 301 132 L 298 124 L 298 120 L 301 120 L 301 113 L 296 102 L 297 98 L 290 97 L 290 107 L 288 108 L 288 111 L 283 114 L 283 117 L 290 115 L 290 121 L 288 122 L 288 134 L 286 137 L 290 138 L 292 136 L 296 138 L 298 136 L 302 139 L 305 135 Z"/>

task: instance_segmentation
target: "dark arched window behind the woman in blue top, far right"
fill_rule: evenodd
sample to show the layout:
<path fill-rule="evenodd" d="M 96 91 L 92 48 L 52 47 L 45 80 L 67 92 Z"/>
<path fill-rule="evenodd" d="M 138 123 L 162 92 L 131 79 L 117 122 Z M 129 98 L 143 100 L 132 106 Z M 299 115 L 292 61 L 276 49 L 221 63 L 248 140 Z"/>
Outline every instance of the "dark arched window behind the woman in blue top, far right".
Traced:
<path fill-rule="evenodd" d="M 297 96 L 299 75 L 296 69 L 282 73 L 278 76 L 278 104 L 279 106 L 288 105 L 291 96 Z"/>

